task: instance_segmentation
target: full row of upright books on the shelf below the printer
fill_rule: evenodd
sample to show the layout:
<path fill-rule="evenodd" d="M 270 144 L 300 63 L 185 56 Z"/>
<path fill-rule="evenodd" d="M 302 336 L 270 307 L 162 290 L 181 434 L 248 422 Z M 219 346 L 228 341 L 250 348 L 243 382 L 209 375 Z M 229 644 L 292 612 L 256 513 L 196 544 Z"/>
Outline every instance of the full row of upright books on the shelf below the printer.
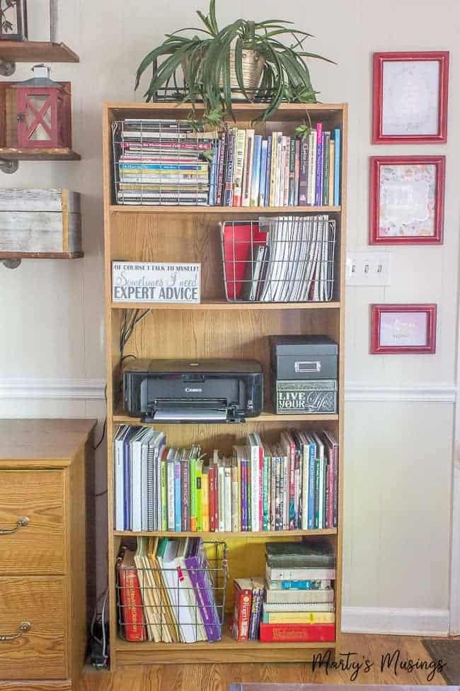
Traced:
<path fill-rule="evenodd" d="M 115 529 L 268 532 L 338 524 L 338 443 L 328 431 L 248 434 L 231 456 L 176 449 L 151 427 L 115 433 Z"/>

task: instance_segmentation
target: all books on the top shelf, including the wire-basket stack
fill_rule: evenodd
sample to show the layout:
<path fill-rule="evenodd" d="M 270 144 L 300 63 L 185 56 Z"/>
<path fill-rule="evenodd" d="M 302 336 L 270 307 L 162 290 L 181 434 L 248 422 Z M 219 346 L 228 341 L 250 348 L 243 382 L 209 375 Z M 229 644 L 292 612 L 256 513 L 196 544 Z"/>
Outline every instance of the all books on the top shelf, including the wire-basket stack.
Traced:
<path fill-rule="evenodd" d="M 151 205 L 338 206 L 340 128 L 268 137 L 218 135 L 187 120 L 126 118 L 113 125 L 117 202 Z"/>

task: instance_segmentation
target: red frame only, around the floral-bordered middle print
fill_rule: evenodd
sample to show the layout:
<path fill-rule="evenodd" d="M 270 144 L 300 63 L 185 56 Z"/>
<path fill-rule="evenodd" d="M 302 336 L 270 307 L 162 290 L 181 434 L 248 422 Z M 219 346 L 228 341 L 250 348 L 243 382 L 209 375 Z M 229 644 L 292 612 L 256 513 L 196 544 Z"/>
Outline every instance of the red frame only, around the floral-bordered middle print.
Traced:
<path fill-rule="evenodd" d="M 432 235 L 381 235 L 381 168 L 434 165 L 436 168 L 434 227 Z M 369 186 L 369 245 L 442 245 L 444 240 L 445 156 L 372 156 Z"/>

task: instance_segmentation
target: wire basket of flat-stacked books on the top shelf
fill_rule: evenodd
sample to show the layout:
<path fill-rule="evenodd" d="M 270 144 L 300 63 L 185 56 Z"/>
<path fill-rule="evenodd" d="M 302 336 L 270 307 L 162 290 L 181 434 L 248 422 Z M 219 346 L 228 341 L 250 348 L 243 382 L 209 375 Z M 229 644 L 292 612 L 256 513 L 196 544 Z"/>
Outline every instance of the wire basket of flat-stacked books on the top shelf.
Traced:
<path fill-rule="evenodd" d="M 112 124 L 115 203 L 206 206 L 217 133 L 187 120 L 125 118 Z"/>

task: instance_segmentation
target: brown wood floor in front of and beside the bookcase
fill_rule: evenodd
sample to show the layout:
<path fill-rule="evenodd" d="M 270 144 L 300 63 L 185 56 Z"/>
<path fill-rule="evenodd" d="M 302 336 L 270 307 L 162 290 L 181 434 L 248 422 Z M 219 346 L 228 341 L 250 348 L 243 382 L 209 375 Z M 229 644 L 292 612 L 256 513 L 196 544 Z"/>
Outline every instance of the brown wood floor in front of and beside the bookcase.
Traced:
<path fill-rule="evenodd" d="M 401 651 L 400 661 L 411 659 L 430 663 L 431 659 L 420 638 L 415 636 L 376 636 L 347 634 L 343 636 L 341 653 L 357 653 L 350 661 L 363 663 L 357 676 L 355 669 L 312 671 L 311 664 L 246 664 L 246 665 L 152 665 L 120 669 L 115 673 L 96 672 L 88 668 L 79 691 L 227 691 L 231 682 L 350 683 L 357 684 L 430 684 L 444 685 L 442 675 L 415 668 L 412 672 L 398 668 L 381 670 L 381 657 Z M 396 658 L 395 658 L 396 659 Z M 373 663 L 364 672 L 366 660 Z M 345 663 L 345 656 L 343 655 Z M 393 660 L 394 665 L 394 660 Z"/>

